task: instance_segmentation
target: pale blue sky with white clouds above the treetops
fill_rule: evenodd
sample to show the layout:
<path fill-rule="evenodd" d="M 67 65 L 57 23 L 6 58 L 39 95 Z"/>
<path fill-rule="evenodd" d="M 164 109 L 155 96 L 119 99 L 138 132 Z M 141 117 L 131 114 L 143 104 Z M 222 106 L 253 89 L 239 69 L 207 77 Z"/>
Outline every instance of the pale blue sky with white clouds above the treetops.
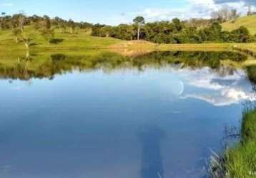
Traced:
<path fill-rule="evenodd" d="M 7 14 L 24 11 L 26 15 L 59 16 L 90 23 L 130 23 L 142 15 L 147 21 L 171 20 L 174 17 L 209 18 L 211 11 L 230 6 L 247 11 L 256 0 L 0 0 L 0 11 Z M 253 8 L 255 8 L 253 6 Z"/>

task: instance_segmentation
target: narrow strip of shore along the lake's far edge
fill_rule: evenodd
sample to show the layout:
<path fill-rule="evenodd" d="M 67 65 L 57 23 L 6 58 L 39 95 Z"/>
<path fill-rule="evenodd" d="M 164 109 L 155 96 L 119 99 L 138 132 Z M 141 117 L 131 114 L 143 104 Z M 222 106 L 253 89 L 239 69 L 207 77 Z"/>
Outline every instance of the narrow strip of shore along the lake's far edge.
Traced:
<path fill-rule="evenodd" d="M 251 49 L 253 46 L 254 49 Z M 124 41 L 109 46 L 19 46 L 0 47 L 0 51 L 82 51 L 82 50 L 154 50 L 154 51 L 239 51 L 256 57 L 256 43 L 184 43 L 157 44 L 147 41 Z"/>

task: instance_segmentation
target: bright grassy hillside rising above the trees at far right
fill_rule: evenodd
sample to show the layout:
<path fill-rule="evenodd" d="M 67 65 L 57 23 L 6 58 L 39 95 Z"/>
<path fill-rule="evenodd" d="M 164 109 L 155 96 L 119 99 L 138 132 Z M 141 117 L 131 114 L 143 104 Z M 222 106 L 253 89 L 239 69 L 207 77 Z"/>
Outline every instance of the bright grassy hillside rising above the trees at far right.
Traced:
<path fill-rule="evenodd" d="M 229 21 L 226 23 L 222 23 L 222 27 L 225 31 L 232 31 L 237 28 L 240 28 L 240 26 L 245 26 L 246 28 L 248 28 L 248 30 L 252 35 L 255 35 L 256 34 L 256 15 L 242 16 L 238 18 L 237 21 L 235 22 Z"/>

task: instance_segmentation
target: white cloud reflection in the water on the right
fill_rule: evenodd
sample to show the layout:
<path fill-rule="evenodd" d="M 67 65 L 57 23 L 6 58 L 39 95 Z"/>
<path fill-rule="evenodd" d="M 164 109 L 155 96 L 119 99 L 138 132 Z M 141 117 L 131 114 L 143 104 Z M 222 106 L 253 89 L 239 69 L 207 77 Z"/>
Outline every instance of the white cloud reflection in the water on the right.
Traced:
<path fill-rule="evenodd" d="M 189 91 L 184 92 L 181 98 L 204 100 L 216 106 L 256 99 L 243 70 L 237 70 L 233 75 L 227 76 L 217 75 L 210 68 L 194 70 L 190 73 L 186 70 L 175 71 L 189 88 Z"/>

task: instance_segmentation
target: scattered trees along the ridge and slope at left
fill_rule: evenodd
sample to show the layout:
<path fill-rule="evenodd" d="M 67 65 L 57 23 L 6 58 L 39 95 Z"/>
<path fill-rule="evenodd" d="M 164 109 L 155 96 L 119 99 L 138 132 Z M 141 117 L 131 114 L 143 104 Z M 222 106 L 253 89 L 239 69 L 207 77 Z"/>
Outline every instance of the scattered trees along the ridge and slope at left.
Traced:
<path fill-rule="evenodd" d="M 31 26 L 34 30 L 39 31 L 49 43 L 58 43 L 59 39 L 54 38 L 55 29 L 58 28 L 62 33 L 75 33 L 76 29 L 92 28 L 91 23 L 87 22 L 74 22 L 55 17 L 54 19 L 49 16 L 25 16 L 24 14 L 14 14 L 12 16 L 6 15 L 2 12 L 0 16 L 0 31 L 11 30 L 15 37 L 16 43 L 24 43 L 26 48 L 29 49 L 31 45 L 31 37 L 25 33 L 24 26 Z"/>

